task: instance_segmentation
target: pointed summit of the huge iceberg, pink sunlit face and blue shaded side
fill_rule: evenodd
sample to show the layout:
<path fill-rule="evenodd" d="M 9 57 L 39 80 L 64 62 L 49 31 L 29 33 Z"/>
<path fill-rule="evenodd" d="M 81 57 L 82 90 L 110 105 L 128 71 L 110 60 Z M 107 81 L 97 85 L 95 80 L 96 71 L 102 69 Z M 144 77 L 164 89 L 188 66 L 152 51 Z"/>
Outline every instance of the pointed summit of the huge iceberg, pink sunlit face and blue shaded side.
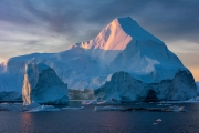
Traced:
<path fill-rule="evenodd" d="M 163 41 L 144 30 L 130 17 L 116 18 L 98 35 L 80 44 L 83 49 L 124 50 L 129 42 L 155 42 L 165 45 Z"/>

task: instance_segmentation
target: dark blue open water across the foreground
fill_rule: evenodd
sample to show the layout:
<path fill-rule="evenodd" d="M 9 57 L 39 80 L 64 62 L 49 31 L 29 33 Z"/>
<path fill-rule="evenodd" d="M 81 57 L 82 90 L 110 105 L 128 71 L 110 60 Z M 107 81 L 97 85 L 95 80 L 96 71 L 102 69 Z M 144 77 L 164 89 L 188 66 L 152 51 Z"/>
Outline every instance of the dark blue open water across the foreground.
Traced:
<path fill-rule="evenodd" d="M 0 133 L 197 133 L 199 103 L 179 104 L 186 112 L 95 112 L 85 110 L 57 112 L 0 111 Z M 123 106 L 156 106 L 130 104 Z M 156 122 L 161 119 L 161 122 Z M 158 124 L 153 124 L 158 123 Z"/>

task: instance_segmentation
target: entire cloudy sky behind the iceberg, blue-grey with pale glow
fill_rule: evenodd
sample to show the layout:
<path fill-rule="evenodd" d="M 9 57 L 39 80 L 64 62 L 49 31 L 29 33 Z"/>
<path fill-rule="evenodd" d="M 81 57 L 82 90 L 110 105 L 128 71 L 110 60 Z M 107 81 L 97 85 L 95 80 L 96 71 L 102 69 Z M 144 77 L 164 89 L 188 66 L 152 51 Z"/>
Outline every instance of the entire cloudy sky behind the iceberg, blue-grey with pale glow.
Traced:
<path fill-rule="evenodd" d="M 199 0 L 0 0 L 0 63 L 60 52 L 132 17 L 164 41 L 199 81 Z"/>

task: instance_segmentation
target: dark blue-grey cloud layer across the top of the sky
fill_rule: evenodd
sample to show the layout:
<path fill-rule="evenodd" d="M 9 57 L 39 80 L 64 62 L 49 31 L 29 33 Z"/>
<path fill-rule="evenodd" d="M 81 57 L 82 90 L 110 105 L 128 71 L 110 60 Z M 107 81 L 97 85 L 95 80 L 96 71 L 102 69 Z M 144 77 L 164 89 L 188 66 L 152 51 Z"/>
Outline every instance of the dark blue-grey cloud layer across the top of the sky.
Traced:
<path fill-rule="evenodd" d="M 199 42 L 199 1 L 187 0 L 7 0 L 0 20 L 19 24 L 45 23 L 51 32 L 72 41 L 90 39 L 116 17 L 130 16 L 163 40 Z M 92 25 L 92 27 L 91 27 Z M 92 29 L 84 34 L 81 30 Z M 83 40 L 82 40 L 83 41 Z"/>

